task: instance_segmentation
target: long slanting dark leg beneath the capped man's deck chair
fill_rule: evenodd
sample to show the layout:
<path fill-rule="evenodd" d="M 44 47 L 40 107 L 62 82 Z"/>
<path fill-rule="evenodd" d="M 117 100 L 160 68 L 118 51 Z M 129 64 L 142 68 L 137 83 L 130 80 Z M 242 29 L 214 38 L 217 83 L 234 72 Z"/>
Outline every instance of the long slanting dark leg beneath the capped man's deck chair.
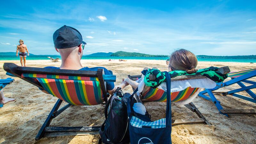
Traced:
<path fill-rule="evenodd" d="M 54 118 L 52 116 L 53 113 L 55 113 L 59 108 L 60 108 L 60 104 L 61 104 L 62 100 L 58 99 L 57 102 L 55 103 L 55 105 L 53 106 L 50 114 L 47 116 L 44 124 L 42 125 L 42 127 L 40 128 L 39 132 L 36 135 L 35 140 L 40 140 L 43 136 L 44 136 L 44 128 L 49 126 L 52 122 L 52 119 Z"/>

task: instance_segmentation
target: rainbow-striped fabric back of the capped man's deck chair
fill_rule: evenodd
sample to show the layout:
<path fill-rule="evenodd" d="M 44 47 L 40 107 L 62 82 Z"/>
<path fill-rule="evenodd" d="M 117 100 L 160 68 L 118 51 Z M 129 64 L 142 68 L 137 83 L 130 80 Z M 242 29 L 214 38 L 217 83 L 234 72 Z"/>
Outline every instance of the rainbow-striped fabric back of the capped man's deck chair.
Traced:
<path fill-rule="evenodd" d="M 98 105 L 104 102 L 98 77 L 22 74 L 36 78 L 53 96 L 72 105 Z"/>

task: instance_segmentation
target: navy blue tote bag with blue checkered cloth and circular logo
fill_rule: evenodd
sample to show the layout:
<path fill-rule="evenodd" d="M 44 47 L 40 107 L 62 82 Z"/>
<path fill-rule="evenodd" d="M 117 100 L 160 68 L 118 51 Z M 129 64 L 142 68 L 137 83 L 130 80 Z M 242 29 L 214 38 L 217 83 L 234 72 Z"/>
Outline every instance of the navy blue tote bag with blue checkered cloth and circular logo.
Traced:
<path fill-rule="evenodd" d="M 171 77 L 169 73 L 164 72 L 166 76 L 167 104 L 166 117 L 151 121 L 146 115 L 141 115 L 133 110 L 133 104 L 136 100 L 133 95 L 138 88 L 129 97 L 127 102 L 127 111 L 129 116 L 129 133 L 131 144 L 171 144 L 172 132 L 172 113 L 171 113 Z"/>

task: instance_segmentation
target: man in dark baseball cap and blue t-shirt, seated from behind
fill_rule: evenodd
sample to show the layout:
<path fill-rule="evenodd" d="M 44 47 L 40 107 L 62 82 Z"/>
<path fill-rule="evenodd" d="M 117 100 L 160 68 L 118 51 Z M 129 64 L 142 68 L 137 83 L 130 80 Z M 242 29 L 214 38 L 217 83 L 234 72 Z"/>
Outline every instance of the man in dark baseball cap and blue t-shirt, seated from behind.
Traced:
<path fill-rule="evenodd" d="M 64 25 L 63 27 L 57 29 L 53 34 L 53 43 L 57 52 L 61 56 L 61 65 L 60 69 L 74 69 L 74 70 L 90 70 L 97 71 L 98 68 L 95 67 L 88 68 L 83 67 L 80 60 L 83 56 L 83 50 L 85 42 L 83 41 L 81 33 L 72 27 Z M 46 67 L 46 68 L 57 68 L 57 67 Z M 59 69 L 59 68 L 58 68 Z M 108 69 L 103 68 L 105 75 L 111 75 Z M 109 94 L 115 92 L 117 87 L 122 89 L 128 85 L 128 83 L 121 83 L 118 86 L 115 86 L 114 82 L 107 82 L 107 90 Z"/>

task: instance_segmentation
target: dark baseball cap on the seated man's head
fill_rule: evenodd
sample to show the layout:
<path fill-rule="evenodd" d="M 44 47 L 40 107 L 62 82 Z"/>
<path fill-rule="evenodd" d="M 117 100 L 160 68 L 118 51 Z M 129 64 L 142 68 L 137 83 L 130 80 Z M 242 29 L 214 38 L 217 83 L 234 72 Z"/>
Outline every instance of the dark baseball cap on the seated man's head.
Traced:
<path fill-rule="evenodd" d="M 57 49 L 65 49 L 86 44 L 81 33 L 76 29 L 64 25 L 53 33 L 53 43 Z"/>

